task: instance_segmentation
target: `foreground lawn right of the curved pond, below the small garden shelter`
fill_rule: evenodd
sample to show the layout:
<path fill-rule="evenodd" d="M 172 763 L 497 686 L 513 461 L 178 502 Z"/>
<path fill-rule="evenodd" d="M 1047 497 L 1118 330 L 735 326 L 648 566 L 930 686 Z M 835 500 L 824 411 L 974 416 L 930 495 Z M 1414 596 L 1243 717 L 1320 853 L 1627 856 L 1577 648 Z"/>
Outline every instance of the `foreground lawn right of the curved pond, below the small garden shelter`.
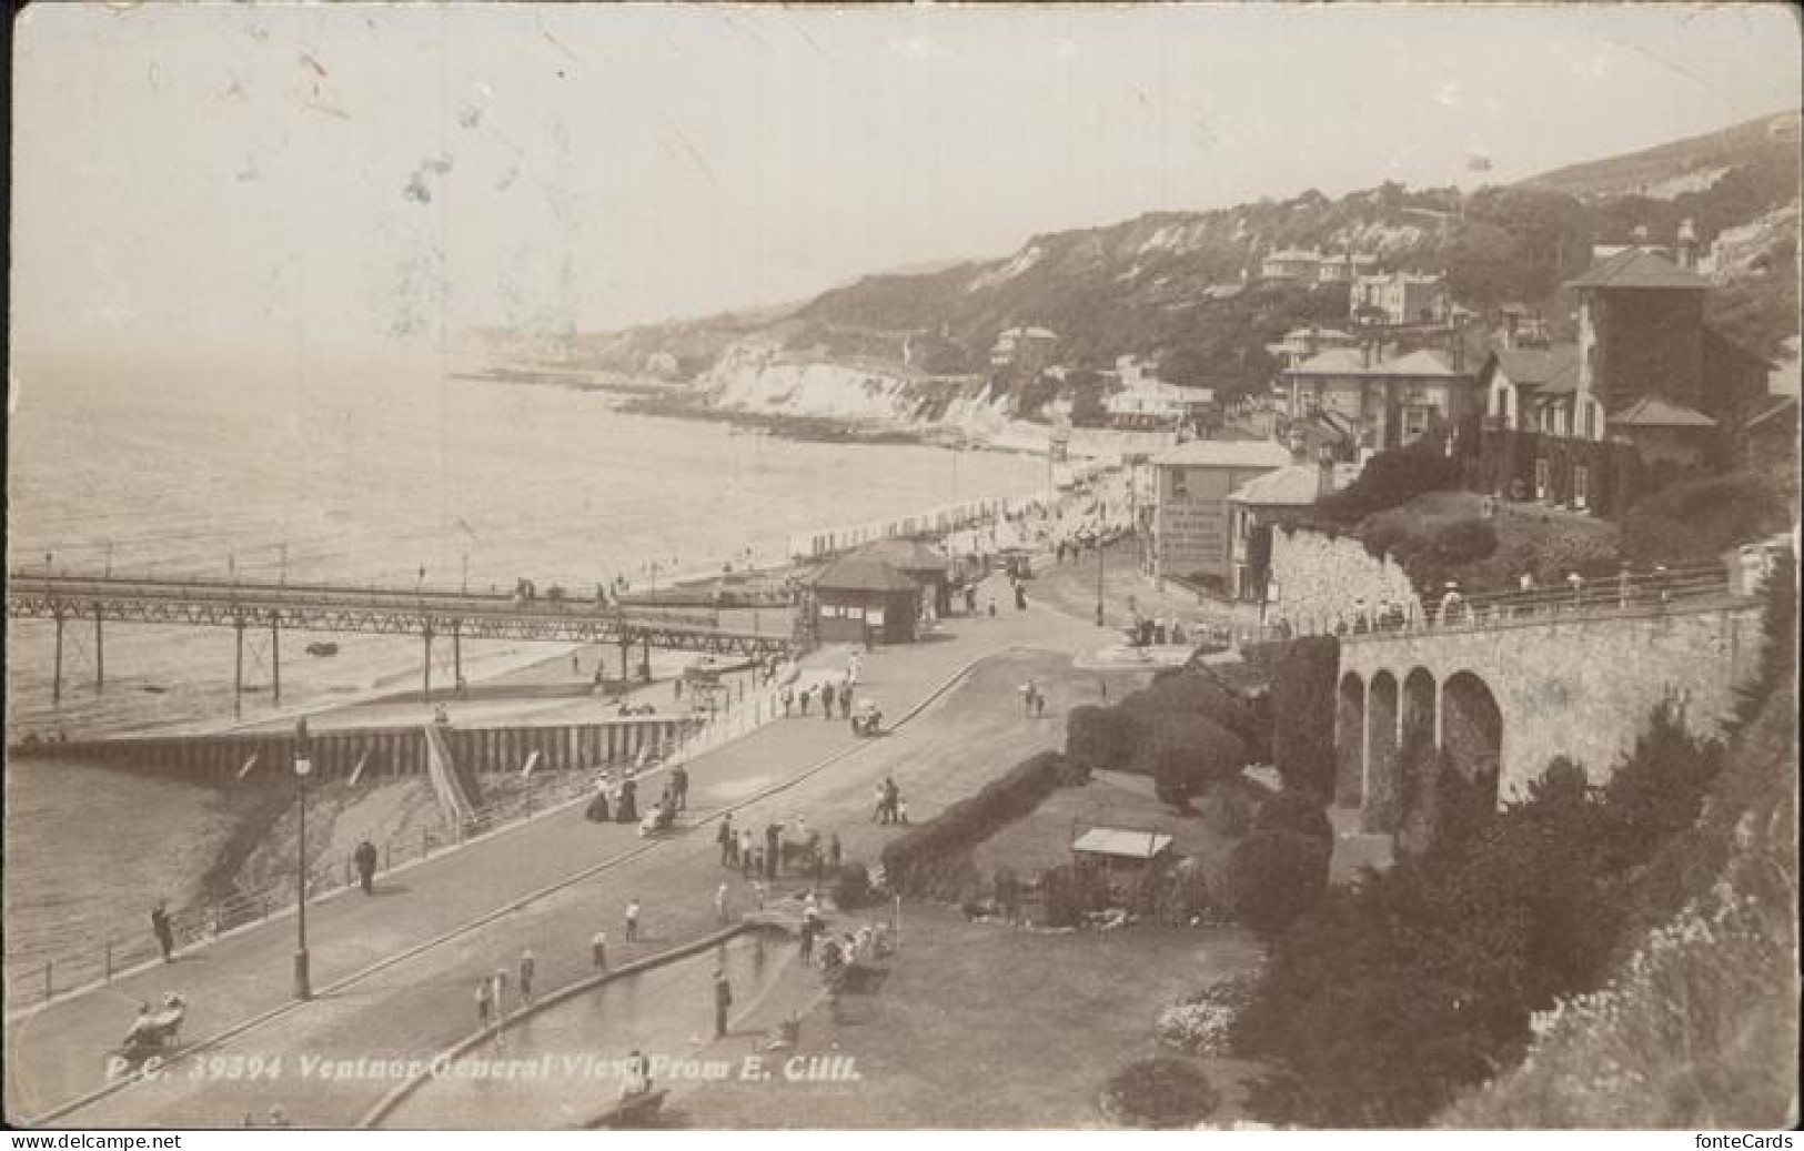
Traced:
<path fill-rule="evenodd" d="M 676 1106 L 704 1129 L 1108 1128 L 1102 1082 L 1164 1050 L 1158 1012 L 1257 958 L 1234 929 L 1035 935 L 909 904 L 880 989 L 803 1021 L 799 1054 L 850 1055 L 859 1081 L 731 1079 Z M 1225 1097 L 1210 1122 L 1230 1120 L 1250 1064 L 1200 1066 Z"/>

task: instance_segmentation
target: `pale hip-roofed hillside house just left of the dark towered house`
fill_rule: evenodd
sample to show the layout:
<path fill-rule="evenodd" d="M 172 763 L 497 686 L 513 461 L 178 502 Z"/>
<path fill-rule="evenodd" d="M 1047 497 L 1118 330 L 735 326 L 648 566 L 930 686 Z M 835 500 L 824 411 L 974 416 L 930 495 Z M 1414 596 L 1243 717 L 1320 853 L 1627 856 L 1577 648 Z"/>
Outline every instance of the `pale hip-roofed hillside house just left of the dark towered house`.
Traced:
<path fill-rule="evenodd" d="M 1293 422 L 1326 417 L 1362 451 L 1402 447 L 1479 411 L 1477 381 L 1461 361 L 1458 345 L 1393 359 L 1375 345 L 1319 352 L 1279 373 L 1279 410 Z"/>

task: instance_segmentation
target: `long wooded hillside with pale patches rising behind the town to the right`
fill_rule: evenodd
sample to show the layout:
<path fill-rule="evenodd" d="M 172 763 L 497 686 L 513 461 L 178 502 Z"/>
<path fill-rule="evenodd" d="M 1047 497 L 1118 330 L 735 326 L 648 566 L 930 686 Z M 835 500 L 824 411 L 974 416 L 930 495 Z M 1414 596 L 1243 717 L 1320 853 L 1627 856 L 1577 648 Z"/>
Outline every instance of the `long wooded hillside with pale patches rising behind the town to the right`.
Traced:
<path fill-rule="evenodd" d="M 1344 289 L 1257 285 L 1274 249 L 1358 251 L 1387 269 L 1445 269 L 1467 307 L 1483 314 L 1519 301 L 1559 328 L 1573 310 L 1559 285 L 1588 267 L 1593 244 L 1625 244 L 1636 227 L 1671 240 L 1680 220 L 1692 218 L 1705 245 L 1746 231 L 1735 258 L 1741 283 L 1717 294 L 1717 310 L 1732 336 L 1770 354 L 1797 330 L 1788 274 L 1797 213 L 1786 209 L 1799 198 L 1799 177 L 1797 143 L 1770 132 L 1768 121 L 1470 195 L 1384 184 L 1340 198 L 1304 191 L 1149 213 L 1032 236 L 999 260 L 866 276 L 776 312 L 574 343 L 617 370 L 639 368 L 655 350 L 675 352 L 693 370 L 731 341 L 758 336 L 828 357 L 909 354 L 931 372 L 987 372 L 999 330 L 1041 325 L 1059 334 L 1064 364 L 1099 368 L 1120 354 L 1151 354 L 1165 361 L 1167 379 L 1232 397 L 1266 386 L 1277 364 L 1265 345 L 1286 330 L 1346 325 Z"/>

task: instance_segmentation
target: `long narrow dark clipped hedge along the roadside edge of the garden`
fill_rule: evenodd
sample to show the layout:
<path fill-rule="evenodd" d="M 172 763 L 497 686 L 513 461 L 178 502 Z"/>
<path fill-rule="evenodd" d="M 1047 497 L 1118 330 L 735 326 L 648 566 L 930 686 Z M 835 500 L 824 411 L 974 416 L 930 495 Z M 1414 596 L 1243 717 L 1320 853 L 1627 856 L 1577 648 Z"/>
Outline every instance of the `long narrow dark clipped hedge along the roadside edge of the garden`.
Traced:
<path fill-rule="evenodd" d="M 1023 760 L 998 779 L 960 799 L 927 823 L 916 824 L 884 846 L 884 875 L 889 889 L 902 895 L 942 895 L 949 875 L 967 875 L 962 864 L 971 848 L 1003 826 L 1021 819 L 1064 779 L 1064 756 L 1045 750 Z"/>

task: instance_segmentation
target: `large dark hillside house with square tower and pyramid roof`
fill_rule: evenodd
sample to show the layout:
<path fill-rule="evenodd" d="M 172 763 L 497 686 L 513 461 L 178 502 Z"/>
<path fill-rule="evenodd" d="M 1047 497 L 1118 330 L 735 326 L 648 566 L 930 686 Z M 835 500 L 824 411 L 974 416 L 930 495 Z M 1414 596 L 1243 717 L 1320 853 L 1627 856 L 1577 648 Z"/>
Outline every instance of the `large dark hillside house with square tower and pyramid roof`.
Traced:
<path fill-rule="evenodd" d="M 1479 372 L 1481 467 L 1494 491 L 1616 512 L 1640 469 L 1708 462 L 1768 364 L 1703 323 L 1710 281 L 1663 251 L 1624 247 L 1566 287 L 1577 343 L 1501 348 Z"/>

